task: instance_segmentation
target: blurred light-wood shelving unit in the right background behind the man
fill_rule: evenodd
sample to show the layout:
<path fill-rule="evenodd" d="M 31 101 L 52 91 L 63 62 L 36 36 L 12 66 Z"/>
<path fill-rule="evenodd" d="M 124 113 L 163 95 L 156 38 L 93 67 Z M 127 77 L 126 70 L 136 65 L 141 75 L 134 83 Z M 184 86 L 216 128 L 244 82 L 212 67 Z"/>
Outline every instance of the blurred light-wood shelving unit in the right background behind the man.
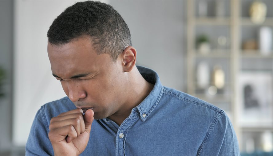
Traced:
<path fill-rule="evenodd" d="M 208 6 L 210 5 L 210 7 L 216 7 L 216 5 L 212 4 L 217 2 L 217 0 L 187 1 L 187 92 L 197 98 L 210 102 L 227 112 L 236 131 L 240 149 L 242 153 L 245 153 L 245 137 L 253 136 L 253 138 L 257 139 L 262 136 L 263 132 L 267 131 L 272 132 L 273 135 L 273 123 L 267 126 L 244 126 L 238 121 L 243 113 L 240 108 L 240 106 L 243 105 L 240 99 L 243 97 L 238 89 L 238 86 L 241 85 L 241 73 L 245 71 L 253 73 L 267 71 L 271 72 L 271 78 L 273 79 L 273 50 L 270 52 L 270 55 L 263 55 L 260 50 L 243 50 L 242 48 L 244 39 L 251 39 L 249 36 L 258 41 L 258 37 L 255 33 L 258 33 L 259 27 L 268 26 L 273 30 L 273 11 L 267 15 L 263 23 L 255 24 L 251 21 L 250 17 L 248 17 L 248 13 L 245 13 L 246 8 L 248 9 L 253 1 L 222 0 L 225 1 L 224 7 L 226 8 L 224 15 L 216 16 L 211 13 L 213 11 L 211 11 L 212 8 L 210 8 L 208 11 L 211 12 L 208 13 L 208 16 L 198 16 L 198 3 L 201 1 L 207 1 L 209 3 Z M 273 6 L 273 0 L 262 0 L 262 2 L 266 5 Z M 270 6 L 267 6 L 267 10 L 271 10 Z M 220 32 L 217 31 L 217 29 L 219 29 Z M 200 53 L 199 50 L 197 50 L 196 38 L 202 31 L 204 33 L 207 32 L 207 35 L 211 35 L 212 40 L 215 40 L 215 37 L 222 33 L 223 36 L 227 37 L 229 44 L 223 49 L 220 49 L 215 44 L 213 45 L 212 42 L 212 48 L 208 54 Z M 207 93 L 207 88 L 203 88 L 204 93 L 200 93 L 200 90 L 202 92 L 202 89 L 197 86 L 196 68 L 198 63 L 202 60 L 208 62 L 210 72 L 212 72 L 213 64 L 219 64 L 220 62 L 220 64 L 224 66 L 223 70 L 225 72 L 226 85 L 223 92 L 216 95 L 209 95 Z M 245 62 L 248 62 L 251 66 L 245 65 Z M 261 62 L 265 65 L 259 64 Z M 270 62 L 271 65 L 268 66 Z M 253 66 L 256 68 L 253 69 Z M 273 84 L 273 82 L 271 82 L 271 84 Z M 210 85 L 212 85 L 212 82 L 210 82 Z M 273 98 L 270 106 L 271 107 L 269 108 L 273 108 Z M 255 147 L 259 146 L 257 144 L 260 144 L 260 140 L 257 142 L 255 140 Z"/>

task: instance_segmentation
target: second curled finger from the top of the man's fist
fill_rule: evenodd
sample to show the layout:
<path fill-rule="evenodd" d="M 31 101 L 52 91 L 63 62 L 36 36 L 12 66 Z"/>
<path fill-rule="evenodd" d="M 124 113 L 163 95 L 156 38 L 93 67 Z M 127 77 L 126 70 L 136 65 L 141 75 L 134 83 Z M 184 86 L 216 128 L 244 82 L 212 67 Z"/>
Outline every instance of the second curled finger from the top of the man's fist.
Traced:
<path fill-rule="evenodd" d="M 49 125 L 49 130 L 64 127 L 67 125 L 73 125 L 78 136 L 85 131 L 85 123 L 82 116 L 77 118 L 69 118 L 62 121 L 51 122 Z"/>

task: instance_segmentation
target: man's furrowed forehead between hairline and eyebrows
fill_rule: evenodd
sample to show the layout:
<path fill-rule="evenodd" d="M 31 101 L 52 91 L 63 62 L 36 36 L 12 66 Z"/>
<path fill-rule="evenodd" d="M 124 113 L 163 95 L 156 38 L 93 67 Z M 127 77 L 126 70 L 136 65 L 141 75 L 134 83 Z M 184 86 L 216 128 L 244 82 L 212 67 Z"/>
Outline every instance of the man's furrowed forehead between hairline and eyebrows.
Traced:
<path fill-rule="evenodd" d="M 97 54 L 89 37 L 77 38 L 61 46 L 48 43 L 48 56 L 53 74 L 60 77 L 95 72 L 111 61 L 109 54 Z"/>

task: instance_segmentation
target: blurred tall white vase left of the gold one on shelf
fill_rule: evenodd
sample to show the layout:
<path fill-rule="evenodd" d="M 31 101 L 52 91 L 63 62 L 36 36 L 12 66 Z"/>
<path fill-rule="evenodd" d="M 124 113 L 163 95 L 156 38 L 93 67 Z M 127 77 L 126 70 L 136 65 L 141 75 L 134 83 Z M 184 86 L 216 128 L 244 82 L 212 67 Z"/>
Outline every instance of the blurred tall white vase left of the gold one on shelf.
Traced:
<path fill-rule="evenodd" d="M 197 86 L 205 89 L 209 85 L 210 74 L 207 62 L 200 62 L 196 69 Z"/>

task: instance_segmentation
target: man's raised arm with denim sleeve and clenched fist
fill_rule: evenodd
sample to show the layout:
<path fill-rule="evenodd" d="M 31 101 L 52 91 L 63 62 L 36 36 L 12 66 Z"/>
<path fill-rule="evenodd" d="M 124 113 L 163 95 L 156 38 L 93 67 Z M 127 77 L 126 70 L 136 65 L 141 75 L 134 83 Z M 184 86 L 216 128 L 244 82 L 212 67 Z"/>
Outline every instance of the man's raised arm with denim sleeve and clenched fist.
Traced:
<path fill-rule="evenodd" d="M 30 130 L 26 155 L 81 154 L 89 140 L 93 110 L 82 113 L 81 109 L 70 110 L 51 118 L 48 125 L 41 107 Z"/>

